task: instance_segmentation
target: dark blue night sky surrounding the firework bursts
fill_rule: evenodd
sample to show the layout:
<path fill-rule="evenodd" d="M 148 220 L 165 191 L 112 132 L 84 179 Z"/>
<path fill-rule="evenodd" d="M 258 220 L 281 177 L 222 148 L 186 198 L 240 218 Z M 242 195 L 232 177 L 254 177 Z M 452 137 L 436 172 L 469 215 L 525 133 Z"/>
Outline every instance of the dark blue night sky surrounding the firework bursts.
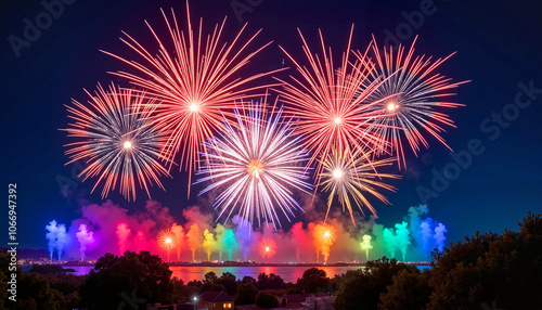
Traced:
<path fill-rule="evenodd" d="M 50 25 L 42 25 L 44 29 L 30 38 L 34 41 L 20 49 L 12 48 L 10 36 L 24 39 L 25 18 L 35 23 L 37 16 L 43 16 L 44 7 L 40 1 L 0 2 L 1 184 L 7 196 L 8 184 L 17 183 L 21 247 L 46 247 L 47 222 L 56 219 L 69 224 L 79 216 L 76 201 L 66 199 L 57 184 L 59 179 L 74 180 L 74 166 L 64 166 L 62 145 L 67 139 L 57 129 L 68 121 L 64 104 L 72 98 L 85 101 L 82 88 L 93 90 L 96 82 L 116 80 L 106 72 L 122 68 L 118 61 L 99 50 L 128 55 L 130 52 L 118 40 L 121 30 L 152 42 L 143 20 L 160 29 L 164 22 L 159 8 L 173 8 L 179 17 L 185 13 L 184 1 L 179 0 L 65 2 L 73 3 L 64 4 L 64 12 Z M 256 5 L 236 16 L 232 2 Z M 542 10 L 538 1 L 459 2 L 197 0 L 191 1 L 191 10 L 193 18 L 204 17 L 207 29 L 228 15 L 228 38 L 240 29 L 238 20 L 249 23 L 249 33 L 263 28 L 258 42 L 274 43 L 249 66 L 258 72 L 281 66 L 284 55 L 278 44 L 302 60 L 296 27 L 313 46 L 321 28 L 327 43 L 337 51 L 346 47 L 352 23 L 353 44 L 359 49 L 367 46 L 372 34 L 382 42 L 386 34 L 399 31 L 403 43 L 420 35 L 420 53 L 441 57 L 457 51 L 440 67 L 440 73 L 472 82 L 457 89 L 454 100 L 467 106 L 451 112 L 457 129 L 450 129 L 444 138 L 456 152 L 468 150 L 468 143 L 476 141 L 481 144 L 476 151 L 481 147 L 483 152 L 473 156 L 472 164 L 462 168 L 461 175 L 438 196 L 428 199 L 429 216 L 443 222 L 449 240 L 456 241 L 477 230 L 516 229 L 528 210 L 542 211 L 542 90 L 537 93 L 537 89 L 542 89 Z M 421 7 L 426 13 L 423 21 L 417 18 L 415 27 L 408 26 L 409 16 L 420 16 L 421 13 L 412 12 L 420 12 Z M 522 90 L 518 83 L 534 89 L 519 95 L 520 102 L 531 100 L 528 107 L 517 107 L 516 96 Z M 492 114 L 503 114 L 503 109 L 509 121 L 499 122 Z M 499 132 L 496 128 L 501 128 Z M 416 189 L 435 190 L 431 171 L 442 171 L 452 163 L 446 147 L 430 142 L 433 146 L 421 157 L 410 156 L 409 170 L 393 183 L 399 191 L 388 195 L 392 206 L 375 202 L 379 222 L 400 221 L 410 206 L 422 202 Z M 453 171 L 447 176 L 454 177 Z M 175 172 L 173 177 L 165 181 L 167 192 L 154 189 L 152 194 L 180 217 L 181 209 L 195 204 L 196 198 L 193 194 L 186 202 L 186 176 Z M 82 192 L 90 188 L 91 183 L 80 185 Z M 138 194 L 144 196 L 142 192 Z M 99 193 L 87 198 L 102 202 Z M 132 204 L 119 195 L 111 198 L 133 210 L 144 205 L 142 198 Z M 7 220 L 0 220 L 0 231 L 7 232 Z M 7 233 L 2 242 L 5 236 Z"/>

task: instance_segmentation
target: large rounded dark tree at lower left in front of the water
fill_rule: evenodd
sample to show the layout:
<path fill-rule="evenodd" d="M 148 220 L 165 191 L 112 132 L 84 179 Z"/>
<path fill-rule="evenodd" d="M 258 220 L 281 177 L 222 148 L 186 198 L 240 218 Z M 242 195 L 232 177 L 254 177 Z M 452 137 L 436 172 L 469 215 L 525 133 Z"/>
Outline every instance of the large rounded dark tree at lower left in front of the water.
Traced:
<path fill-rule="evenodd" d="M 80 288 L 81 308 L 117 309 L 126 298 L 142 307 L 147 302 L 170 303 L 173 284 L 169 267 L 156 255 L 126 251 L 105 254 Z"/>

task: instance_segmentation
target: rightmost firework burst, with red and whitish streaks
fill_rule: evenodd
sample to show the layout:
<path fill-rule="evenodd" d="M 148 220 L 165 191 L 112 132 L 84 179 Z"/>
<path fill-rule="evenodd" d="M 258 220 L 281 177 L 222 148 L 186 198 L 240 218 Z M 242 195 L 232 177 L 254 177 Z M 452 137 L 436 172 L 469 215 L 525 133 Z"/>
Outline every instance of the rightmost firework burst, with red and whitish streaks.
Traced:
<path fill-rule="evenodd" d="M 382 111 L 388 117 L 375 119 L 376 127 L 371 130 L 382 135 L 383 142 L 387 142 L 378 146 L 379 152 L 375 155 L 382 153 L 395 155 L 399 168 L 406 166 L 403 139 L 416 156 L 421 145 L 429 147 L 424 132 L 450 148 L 441 137 L 441 132 L 446 131 L 442 125 L 450 127 L 455 127 L 455 125 L 440 109 L 464 106 L 464 104 L 444 101 L 444 98 L 454 95 L 448 92 L 449 90 L 468 82 L 452 82 L 451 78 L 435 72 L 454 53 L 434 62 L 431 57 L 425 55 L 414 56 L 416 39 L 417 37 L 408 51 L 403 46 L 399 46 L 396 51 L 391 47 L 385 47 L 382 53 L 373 37 L 372 50 L 376 69 L 371 72 L 372 79 L 366 82 L 369 86 L 371 80 L 384 78 L 384 83 L 367 96 L 366 102 L 379 101 L 371 107 L 371 111 Z M 357 56 L 360 60 L 366 59 L 366 55 L 361 52 L 358 52 Z M 364 91 L 364 88 L 361 88 L 361 91 Z M 382 101 L 383 98 L 386 100 Z"/>

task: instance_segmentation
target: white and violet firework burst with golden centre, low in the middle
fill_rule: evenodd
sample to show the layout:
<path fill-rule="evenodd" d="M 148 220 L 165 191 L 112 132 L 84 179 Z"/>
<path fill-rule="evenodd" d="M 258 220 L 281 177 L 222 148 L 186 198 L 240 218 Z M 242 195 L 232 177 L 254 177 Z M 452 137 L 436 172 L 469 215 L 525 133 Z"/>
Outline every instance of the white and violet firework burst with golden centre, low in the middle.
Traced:
<path fill-rule="evenodd" d="M 225 186 L 214 203 L 220 208 L 218 219 L 227 215 L 228 221 L 238 208 L 244 221 L 254 224 L 256 216 L 258 224 L 271 221 L 276 229 L 281 227 L 276 209 L 288 221 L 295 209 L 301 209 L 291 189 L 312 190 L 305 181 L 308 155 L 299 143 L 301 138 L 292 138 L 292 121 L 280 124 L 282 109 L 276 109 L 275 102 L 267 118 L 266 102 L 236 108 L 238 129 L 224 121 L 227 130 L 206 143 L 208 152 L 202 155 L 208 164 L 198 175 L 208 176 L 196 183 L 212 181 L 199 195 Z"/>

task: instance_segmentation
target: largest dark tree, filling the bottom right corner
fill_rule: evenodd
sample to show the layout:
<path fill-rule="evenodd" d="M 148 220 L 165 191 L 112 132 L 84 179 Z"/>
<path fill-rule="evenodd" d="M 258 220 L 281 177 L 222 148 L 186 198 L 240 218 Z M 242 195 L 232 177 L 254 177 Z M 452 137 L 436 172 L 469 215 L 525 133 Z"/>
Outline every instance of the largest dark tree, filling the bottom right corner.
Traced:
<path fill-rule="evenodd" d="M 476 233 L 434 253 L 428 309 L 535 309 L 542 294 L 542 215 L 520 231 Z M 491 306 L 490 306 L 491 305 Z"/>

